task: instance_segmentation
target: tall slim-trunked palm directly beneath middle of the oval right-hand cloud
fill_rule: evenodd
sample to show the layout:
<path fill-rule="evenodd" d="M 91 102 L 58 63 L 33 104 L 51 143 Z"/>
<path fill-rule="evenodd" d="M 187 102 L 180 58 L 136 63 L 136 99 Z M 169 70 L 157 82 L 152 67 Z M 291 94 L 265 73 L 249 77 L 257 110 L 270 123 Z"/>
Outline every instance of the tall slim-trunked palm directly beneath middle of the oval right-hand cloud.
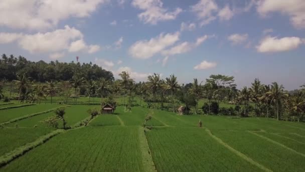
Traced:
<path fill-rule="evenodd" d="M 279 120 L 279 104 L 281 99 L 285 99 L 287 97 L 287 94 L 284 92 L 283 85 L 278 85 L 277 82 L 272 82 L 271 90 L 270 90 L 270 96 L 272 97 L 272 101 L 275 101 L 276 104 L 276 116 L 277 120 Z"/>

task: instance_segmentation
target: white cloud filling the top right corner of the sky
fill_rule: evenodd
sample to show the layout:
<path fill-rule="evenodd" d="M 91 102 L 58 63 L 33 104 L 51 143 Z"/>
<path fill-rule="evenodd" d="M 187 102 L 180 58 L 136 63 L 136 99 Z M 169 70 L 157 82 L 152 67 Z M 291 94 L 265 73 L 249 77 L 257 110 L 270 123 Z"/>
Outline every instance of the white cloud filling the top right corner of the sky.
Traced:
<path fill-rule="evenodd" d="M 303 0 L 263 0 L 257 3 L 257 11 L 262 16 L 279 12 L 289 16 L 295 28 L 305 29 L 305 1 Z"/>

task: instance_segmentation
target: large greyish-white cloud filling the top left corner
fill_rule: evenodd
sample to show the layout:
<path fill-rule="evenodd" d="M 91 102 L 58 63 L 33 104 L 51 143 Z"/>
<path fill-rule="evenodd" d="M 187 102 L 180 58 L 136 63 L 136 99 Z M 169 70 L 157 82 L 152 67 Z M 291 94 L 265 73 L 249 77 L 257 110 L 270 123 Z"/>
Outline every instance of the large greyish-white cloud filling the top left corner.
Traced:
<path fill-rule="evenodd" d="M 108 0 L 1 0 L 0 26 L 41 30 L 70 17 L 85 18 Z"/>

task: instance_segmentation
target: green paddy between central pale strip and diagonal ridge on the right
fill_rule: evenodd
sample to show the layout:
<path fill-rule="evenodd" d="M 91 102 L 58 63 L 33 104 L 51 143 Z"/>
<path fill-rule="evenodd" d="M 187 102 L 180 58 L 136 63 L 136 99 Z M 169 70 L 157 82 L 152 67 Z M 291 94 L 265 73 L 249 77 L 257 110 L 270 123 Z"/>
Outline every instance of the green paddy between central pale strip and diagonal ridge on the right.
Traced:
<path fill-rule="evenodd" d="M 199 128 L 146 132 L 158 171 L 259 171 Z M 237 165 L 238 164 L 238 165 Z"/>

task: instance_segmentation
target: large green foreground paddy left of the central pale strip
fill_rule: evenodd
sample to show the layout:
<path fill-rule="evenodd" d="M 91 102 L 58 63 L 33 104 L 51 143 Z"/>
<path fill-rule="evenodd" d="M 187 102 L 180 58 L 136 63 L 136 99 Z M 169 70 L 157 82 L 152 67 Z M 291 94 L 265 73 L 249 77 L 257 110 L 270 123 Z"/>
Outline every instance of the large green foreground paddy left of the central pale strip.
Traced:
<path fill-rule="evenodd" d="M 142 171 L 138 127 L 86 127 L 69 131 L 14 160 L 3 170 Z"/>

